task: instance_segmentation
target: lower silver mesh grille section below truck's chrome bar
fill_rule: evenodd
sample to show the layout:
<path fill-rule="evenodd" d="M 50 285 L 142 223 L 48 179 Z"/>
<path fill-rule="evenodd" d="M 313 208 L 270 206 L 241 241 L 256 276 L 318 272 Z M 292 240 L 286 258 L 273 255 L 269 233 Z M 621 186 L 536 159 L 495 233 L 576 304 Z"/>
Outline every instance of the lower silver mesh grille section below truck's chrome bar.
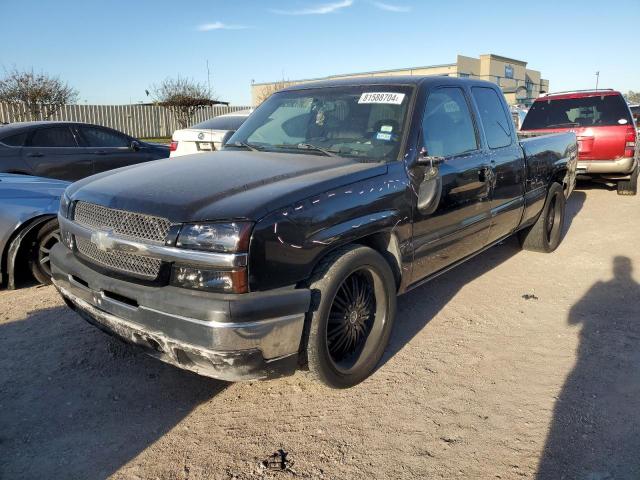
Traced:
<path fill-rule="evenodd" d="M 89 260 L 111 270 L 133 274 L 153 280 L 160 273 L 162 262 L 157 258 L 143 257 L 125 252 L 103 252 L 91 240 L 76 237 L 78 251 Z"/>

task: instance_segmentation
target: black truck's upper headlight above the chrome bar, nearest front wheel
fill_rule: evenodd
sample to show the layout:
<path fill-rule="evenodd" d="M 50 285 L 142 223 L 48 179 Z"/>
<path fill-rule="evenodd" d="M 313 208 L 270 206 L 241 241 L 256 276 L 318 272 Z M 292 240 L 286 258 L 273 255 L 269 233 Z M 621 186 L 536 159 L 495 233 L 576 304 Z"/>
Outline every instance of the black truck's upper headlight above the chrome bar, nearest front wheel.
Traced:
<path fill-rule="evenodd" d="M 246 252 L 251 225 L 248 222 L 187 224 L 180 230 L 176 246 L 211 252 Z"/>

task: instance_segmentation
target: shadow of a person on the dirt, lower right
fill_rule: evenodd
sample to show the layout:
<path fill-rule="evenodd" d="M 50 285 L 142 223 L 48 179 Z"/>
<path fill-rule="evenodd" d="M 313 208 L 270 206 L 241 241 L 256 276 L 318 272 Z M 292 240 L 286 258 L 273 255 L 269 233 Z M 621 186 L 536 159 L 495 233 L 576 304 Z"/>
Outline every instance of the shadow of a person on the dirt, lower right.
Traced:
<path fill-rule="evenodd" d="M 628 257 L 569 312 L 577 362 L 556 401 L 538 479 L 640 478 L 640 285 Z"/>

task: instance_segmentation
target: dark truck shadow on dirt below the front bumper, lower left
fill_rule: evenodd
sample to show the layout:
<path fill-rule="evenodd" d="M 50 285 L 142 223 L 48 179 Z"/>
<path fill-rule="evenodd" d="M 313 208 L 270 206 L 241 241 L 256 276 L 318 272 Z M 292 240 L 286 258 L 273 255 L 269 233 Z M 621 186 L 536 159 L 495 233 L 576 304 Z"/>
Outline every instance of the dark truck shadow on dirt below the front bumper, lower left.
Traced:
<path fill-rule="evenodd" d="M 0 477 L 106 478 L 226 385 L 149 358 L 67 308 L 30 312 L 0 325 Z"/>

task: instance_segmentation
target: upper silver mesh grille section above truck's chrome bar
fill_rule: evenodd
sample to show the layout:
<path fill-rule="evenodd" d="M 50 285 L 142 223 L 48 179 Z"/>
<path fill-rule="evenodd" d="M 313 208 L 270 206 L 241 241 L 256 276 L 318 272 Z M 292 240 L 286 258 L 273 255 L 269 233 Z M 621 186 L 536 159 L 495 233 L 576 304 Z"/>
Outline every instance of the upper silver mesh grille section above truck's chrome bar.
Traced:
<path fill-rule="evenodd" d="M 171 222 L 166 218 L 116 210 L 87 202 L 76 202 L 73 220 L 85 227 L 96 230 L 111 229 L 118 236 L 157 244 L 164 243 L 171 227 Z"/>

